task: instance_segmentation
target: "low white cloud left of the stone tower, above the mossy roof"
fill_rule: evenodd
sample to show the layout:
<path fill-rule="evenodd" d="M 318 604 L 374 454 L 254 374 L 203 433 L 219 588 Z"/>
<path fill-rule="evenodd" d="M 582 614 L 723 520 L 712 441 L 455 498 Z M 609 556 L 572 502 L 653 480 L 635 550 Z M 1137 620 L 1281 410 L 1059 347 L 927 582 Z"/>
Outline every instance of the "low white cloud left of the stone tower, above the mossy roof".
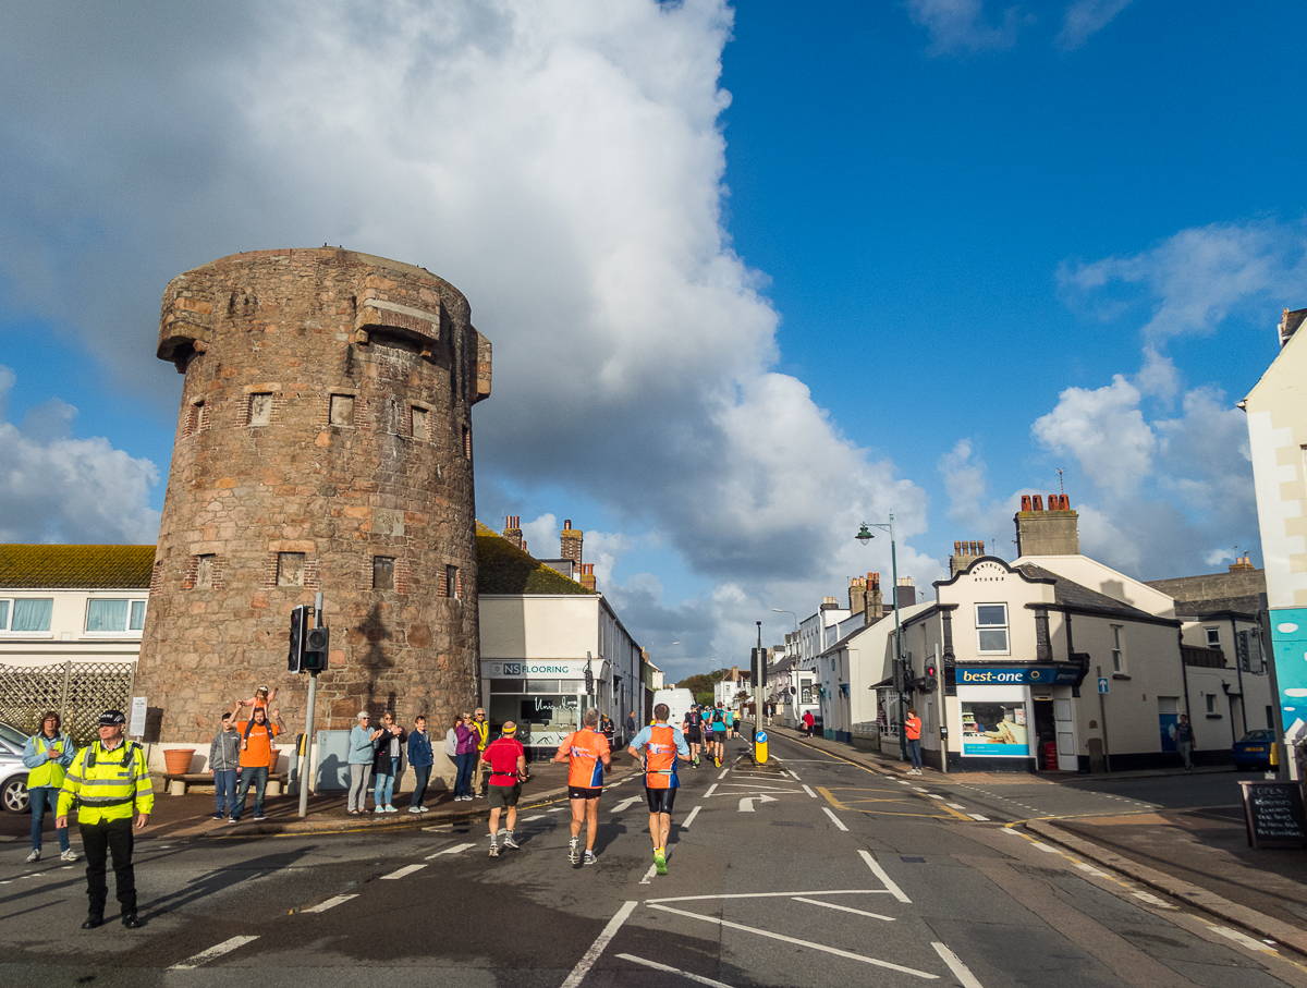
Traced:
<path fill-rule="evenodd" d="M 0 412 L 13 383 L 13 371 L 0 366 Z M 69 438 L 64 426 L 77 413 L 71 405 L 56 400 L 39 409 L 24 430 L 0 421 L 0 542 L 153 544 L 154 464 L 103 438 Z"/>

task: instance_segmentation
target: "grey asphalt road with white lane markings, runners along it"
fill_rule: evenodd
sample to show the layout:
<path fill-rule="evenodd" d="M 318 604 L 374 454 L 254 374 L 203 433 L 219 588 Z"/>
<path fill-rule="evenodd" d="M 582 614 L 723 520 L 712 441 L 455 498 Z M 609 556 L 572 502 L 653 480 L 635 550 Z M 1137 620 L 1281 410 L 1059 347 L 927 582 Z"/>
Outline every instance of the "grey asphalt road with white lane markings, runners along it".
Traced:
<path fill-rule="evenodd" d="M 563 804 L 524 810 L 498 859 L 481 825 L 146 838 L 135 932 L 81 930 L 81 866 L 5 846 L 0 985 L 1307 988 L 1293 955 L 1004 826 L 1022 801 L 1134 796 L 904 784 L 792 741 L 759 772 L 742 753 L 684 770 L 667 877 L 635 783 L 605 793 L 593 866 L 566 860 Z"/>

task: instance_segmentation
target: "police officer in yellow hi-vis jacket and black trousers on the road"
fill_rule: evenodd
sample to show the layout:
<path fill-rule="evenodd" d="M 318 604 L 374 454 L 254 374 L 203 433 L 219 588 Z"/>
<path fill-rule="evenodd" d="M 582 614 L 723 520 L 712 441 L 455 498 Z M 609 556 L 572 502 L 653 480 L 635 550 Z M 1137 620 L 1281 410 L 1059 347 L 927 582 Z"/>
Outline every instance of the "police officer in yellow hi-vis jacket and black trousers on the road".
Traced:
<path fill-rule="evenodd" d="M 154 809 L 154 791 L 141 746 L 124 741 L 127 717 L 120 710 L 106 710 L 99 715 L 99 740 L 77 753 L 64 787 L 59 793 L 56 827 L 68 826 L 68 810 L 76 801 L 77 829 L 82 835 L 86 855 L 86 895 L 90 911 L 82 929 L 94 929 L 105 921 L 105 903 L 108 885 L 105 864 L 114 856 L 114 883 L 123 911 L 123 925 L 137 929 L 144 925 L 136 917 L 136 870 L 132 868 L 132 812 L 136 812 L 136 830 L 141 830 Z"/>

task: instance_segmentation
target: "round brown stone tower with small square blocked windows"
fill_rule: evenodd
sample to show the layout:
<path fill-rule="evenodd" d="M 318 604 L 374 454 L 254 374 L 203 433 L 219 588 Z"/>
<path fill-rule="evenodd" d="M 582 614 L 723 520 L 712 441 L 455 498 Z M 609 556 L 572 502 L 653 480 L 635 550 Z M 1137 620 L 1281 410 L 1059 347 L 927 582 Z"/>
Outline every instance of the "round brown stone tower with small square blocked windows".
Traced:
<path fill-rule="evenodd" d="M 286 639 L 318 592 L 319 729 L 361 708 L 443 729 L 474 706 L 490 342 L 463 294 L 352 251 L 235 254 L 169 284 L 158 357 L 186 384 L 136 677 L 146 737 L 207 741 L 260 685 L 303 731 Z"/>

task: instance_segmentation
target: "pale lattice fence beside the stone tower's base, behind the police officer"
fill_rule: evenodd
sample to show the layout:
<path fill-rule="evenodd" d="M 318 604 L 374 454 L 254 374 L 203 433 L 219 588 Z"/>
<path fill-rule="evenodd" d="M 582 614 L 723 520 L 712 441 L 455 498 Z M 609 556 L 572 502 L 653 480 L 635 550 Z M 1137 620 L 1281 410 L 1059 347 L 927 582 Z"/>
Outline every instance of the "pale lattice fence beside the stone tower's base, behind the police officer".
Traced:
<path fill-rule="evenodd" d="M 25 734 L 41 729 L 47 710 L 59 711 L 78 745 L 95 738 L 99 715 L 131 706 L 136 663 L 0 664 L 0 720 Z"/>

